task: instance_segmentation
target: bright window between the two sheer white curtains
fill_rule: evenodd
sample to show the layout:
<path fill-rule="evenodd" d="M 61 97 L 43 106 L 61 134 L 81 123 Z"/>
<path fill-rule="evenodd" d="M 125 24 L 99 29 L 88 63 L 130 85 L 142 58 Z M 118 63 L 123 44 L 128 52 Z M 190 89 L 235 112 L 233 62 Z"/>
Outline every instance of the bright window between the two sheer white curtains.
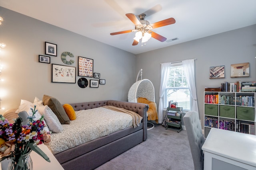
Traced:
<path fill-rule="evenodd" d="M 170 66 L 169 79 L 164 92 L 164 108 L 169 102 L 177 102 L 183 110 L 191 110 L 191 97 L 182 65 Z M 169 106 L 170 107 L 170 106 Z"/>

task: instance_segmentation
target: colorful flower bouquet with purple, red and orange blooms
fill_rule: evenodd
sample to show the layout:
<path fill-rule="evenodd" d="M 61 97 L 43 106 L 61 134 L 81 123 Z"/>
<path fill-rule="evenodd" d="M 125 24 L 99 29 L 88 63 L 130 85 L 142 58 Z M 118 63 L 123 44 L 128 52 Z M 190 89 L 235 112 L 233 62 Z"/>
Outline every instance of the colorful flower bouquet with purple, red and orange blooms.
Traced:
<path fill-rule="evenodd" d="M 43 115 L 39 120 L 34 120 L 36 106 L 31 110 L 32 116 L 28 116 L 24 111 L 27 119 L 22 120 L 18 117 L 13 124 L 9 124 L 8 120 L 0 115 L 0 161 L 11 158 L 14 170 L 27 169 L 24 168 L 24 155 L 29 155 L 32 150 L 50 162 L 48 156 L 37 147 L 42 143 L 50 142 L 50 132 L 43 130 L 45 127 Z"/>

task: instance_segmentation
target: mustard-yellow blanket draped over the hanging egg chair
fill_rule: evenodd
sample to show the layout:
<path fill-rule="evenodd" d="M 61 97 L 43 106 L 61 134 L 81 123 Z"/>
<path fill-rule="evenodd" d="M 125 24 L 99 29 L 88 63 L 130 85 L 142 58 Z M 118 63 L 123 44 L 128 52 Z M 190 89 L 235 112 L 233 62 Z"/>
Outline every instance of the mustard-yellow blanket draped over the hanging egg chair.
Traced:
<path fill-rule="evenodd" d="M 150 102 L 146 98 L 138 98 L 137 99 L 138 103 L 144 103 L 148 104 L 149 109 L 148 109 L 148 120 L 154 120 L 156 123 L 158 123 L 158 114 L 157 114 L 157 106 L 155 102 Z"/>

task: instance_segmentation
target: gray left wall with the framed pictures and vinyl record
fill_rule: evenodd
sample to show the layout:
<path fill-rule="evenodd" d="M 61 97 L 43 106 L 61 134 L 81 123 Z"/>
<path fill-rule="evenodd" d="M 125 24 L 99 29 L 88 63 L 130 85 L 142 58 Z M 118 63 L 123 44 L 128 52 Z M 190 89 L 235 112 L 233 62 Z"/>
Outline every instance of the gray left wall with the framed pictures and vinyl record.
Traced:
<path fill-rule="evenodd" d="M 136 57 L 134 54 L 94 41 L 76 33 L 35 20 L 28 16 L 0 7 L 4 18 L 0 25 L 0 43 L 6 43 L 0 60 L 4 64 L 0 82 L 1 106 L 17 108 L 20 100 L 34 101 L 44 94 L 54 96 L 64 103 L 98 100 L 127 101 L 128 90 L 135 82 Z M 67 23 L 68 24 L 68 23 Z M 57 57 L 51 63 L 62 64 L 61 54 L 71 52 L 78 65 L 78 56 L 94 59 L 94 72 L 106 80 L 99 88 L 80 88 L 78 84 L 52 83 L 51 64 L 38 63 L 38 55 L 44 55 L 44 42 L 57 44 Z M 77 73 L 76 73 L 77 74 Z M 80 76 L 76 76 L 76 81 Z M 95 79 L 95 78 L 88 78 Z M 0 111 L 3 113 L 3 111 Z"/>

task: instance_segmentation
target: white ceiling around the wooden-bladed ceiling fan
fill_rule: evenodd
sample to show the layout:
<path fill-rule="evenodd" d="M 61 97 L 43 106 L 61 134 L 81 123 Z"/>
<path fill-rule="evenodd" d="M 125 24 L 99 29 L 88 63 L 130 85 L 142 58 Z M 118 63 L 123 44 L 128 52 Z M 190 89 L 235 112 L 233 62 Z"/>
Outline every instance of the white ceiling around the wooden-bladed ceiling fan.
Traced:
<path fill-rule="evenodd" d="M 0 0 L 0 6 L 134 54 L 256 24 L 256 0 Z M 142 47 L 132 46 L 135 32 L 110 35 L 134 29 L 127 13 L 145 13 L 150 23 L 175 18 L 152 31 L 178 40 L 151 38 Z"/>

